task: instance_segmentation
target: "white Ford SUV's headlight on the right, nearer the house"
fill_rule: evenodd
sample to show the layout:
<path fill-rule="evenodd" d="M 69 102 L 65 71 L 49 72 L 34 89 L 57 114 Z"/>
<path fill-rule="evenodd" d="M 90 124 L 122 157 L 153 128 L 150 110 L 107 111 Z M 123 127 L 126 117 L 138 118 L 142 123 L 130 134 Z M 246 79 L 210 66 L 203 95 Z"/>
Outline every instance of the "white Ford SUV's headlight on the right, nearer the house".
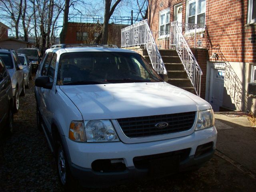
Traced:
<path fill-rule="evenodd" d="M 198 120 L 196 124 L 196 131 L 214 126 L 213 110 L 205 110 L 198 112 Z"/>

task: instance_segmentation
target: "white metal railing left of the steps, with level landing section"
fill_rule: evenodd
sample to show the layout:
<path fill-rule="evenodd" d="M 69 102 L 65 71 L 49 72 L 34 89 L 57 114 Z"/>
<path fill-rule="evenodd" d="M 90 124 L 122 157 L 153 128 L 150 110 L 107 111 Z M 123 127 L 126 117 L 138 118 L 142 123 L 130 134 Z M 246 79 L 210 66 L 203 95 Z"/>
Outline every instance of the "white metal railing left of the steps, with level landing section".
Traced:
<path fill-rule="evenodd" d="M 154 70 L 158 73 L 167 74 L 147 19 L 121 30 L 121 47 L 131 46 L 144 46 Z"/>

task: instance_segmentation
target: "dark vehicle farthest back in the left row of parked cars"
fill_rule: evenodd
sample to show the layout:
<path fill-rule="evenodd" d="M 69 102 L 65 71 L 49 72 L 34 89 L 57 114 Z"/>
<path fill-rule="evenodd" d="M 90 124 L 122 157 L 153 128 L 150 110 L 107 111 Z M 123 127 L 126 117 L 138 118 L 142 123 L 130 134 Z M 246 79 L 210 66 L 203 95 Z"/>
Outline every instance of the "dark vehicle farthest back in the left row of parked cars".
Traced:
<path fill-rule="evenodd" d="M 32 71 L 36 72 L 38 65 L 42 59 L 42 54 L 38 48 L 20 48 L 18 53 L 25 54 L 32 64 Z"/>

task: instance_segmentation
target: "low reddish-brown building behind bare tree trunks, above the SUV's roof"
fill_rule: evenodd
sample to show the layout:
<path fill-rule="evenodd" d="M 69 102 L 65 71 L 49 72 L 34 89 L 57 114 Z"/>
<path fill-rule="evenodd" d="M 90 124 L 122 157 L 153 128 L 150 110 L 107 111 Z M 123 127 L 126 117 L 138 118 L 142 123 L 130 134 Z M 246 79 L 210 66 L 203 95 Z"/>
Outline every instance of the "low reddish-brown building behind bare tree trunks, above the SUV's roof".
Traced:
<path fill-rule="evenodd" d="M 120 47 L 121 29 L 128 25 L 109 24 L 108 44 Z M 96 38 L 100 34 L 102 24 L 68 22 L 68 31 L 65 38 L 66 44 L 96 44 Z"/>

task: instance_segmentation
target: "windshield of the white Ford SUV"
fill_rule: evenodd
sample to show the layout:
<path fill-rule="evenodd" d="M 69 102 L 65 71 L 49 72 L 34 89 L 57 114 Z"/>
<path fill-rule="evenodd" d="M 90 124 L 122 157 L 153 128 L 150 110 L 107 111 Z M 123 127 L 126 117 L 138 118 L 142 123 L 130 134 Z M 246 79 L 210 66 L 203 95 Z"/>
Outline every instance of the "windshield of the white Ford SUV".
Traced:
<path fill-rule="evenodd" d="M 126 82 L 162 82 L 162 79 L 136 53 L 73 52 L 60 56 L 58 85 Z"/>

